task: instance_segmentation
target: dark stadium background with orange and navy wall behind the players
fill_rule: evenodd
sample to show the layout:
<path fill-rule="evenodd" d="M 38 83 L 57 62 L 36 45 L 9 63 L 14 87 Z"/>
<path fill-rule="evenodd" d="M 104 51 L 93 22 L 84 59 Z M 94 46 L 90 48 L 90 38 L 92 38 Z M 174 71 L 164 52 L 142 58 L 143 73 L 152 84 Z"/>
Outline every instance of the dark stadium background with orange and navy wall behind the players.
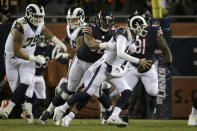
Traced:
<path fill-rule="evenodd" d="M 62 39 L 66 35 L 65 11 L 74 5 L 80 5 L 80 7 L 85 9 L 87 21 L 92 21 L 96 12 L 99 10 L 109 8 L 115 15 L 115 22 L 118 23 L 116 27 L 118 27 L 126 24 L 126 18 L 135 8 L 146 7 L 146 2 L 148 1 L 149 0 L 49 0 L 42 4 L 45 5 L 45 21 L 47 27 L 57 35 L 58 38 Z M 4 62 L 2 61 L 4 49 L 3 39 L 6 37 L 5 23 L 23 16 L 25 6 L 32 2 L 37 3 L 39 1 L 1 0 L 1 15 L 6 22 L 0 25 L 0 80 L 3 80 L 5 74 Z M 177 3 L 170 0 L 163 0 L 162 6 L 165 17 L 161 22 L 164 23 L 164 35 L 173 54 L 173 66 L 175 71 L 170 72 L 165 67 L 161 52 L 156 51 L 156 65 L 158 65 L 159 73 L 159 94 L 157 97 L 158 111 L 156 118 L 182 119 L 188 117 L 191 111 L 192 98 L 197 95 L 197 77 L 195 77 L 197 75 L 197 17 L 195 16 L 197 14 L 197 3 L 194 0 L 179 1 Z M 56 8 L 54 9 L 54 7 Z M 41 110 L 48 106 L 51 97 L 54 95 L 54 87 L 61 77 L 65 76 L 66 72 L 67 65 L 61 65 L 56 61 L 50 61 L 45 73 L 48 87 L 47 101 Z M 11 95 L 8 84 L 0 89 L 0 101 L 8 99 Z M 15 112 L 19 111 L 20 109 L 15 109 Z M 12 113 L 13 117 L 18 117 L 15 116 L 15 114 L 17 114 L 15 112 Z M 79 115 L 81 117 L 98 117 L 99 106 L 96 99 L 93 98 Z"/>

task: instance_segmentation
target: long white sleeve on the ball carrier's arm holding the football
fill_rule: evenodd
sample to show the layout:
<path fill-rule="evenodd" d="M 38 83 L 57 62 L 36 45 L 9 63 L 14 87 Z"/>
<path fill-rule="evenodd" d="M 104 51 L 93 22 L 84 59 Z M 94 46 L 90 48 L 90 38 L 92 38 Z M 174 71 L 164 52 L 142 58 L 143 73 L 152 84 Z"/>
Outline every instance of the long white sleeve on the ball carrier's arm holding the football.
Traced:
<path fill-rule="evenodd" d="M 129 62 L 138 64 L 139 62 L 138 58 L 130 56 L 125 53 L 127 39 L 123 35 L 119 35 L 117 37 L 116 43 L 117 43 L 117 56 L 118 57 L 121 57 L 122 59 L 127 60 Z"/>

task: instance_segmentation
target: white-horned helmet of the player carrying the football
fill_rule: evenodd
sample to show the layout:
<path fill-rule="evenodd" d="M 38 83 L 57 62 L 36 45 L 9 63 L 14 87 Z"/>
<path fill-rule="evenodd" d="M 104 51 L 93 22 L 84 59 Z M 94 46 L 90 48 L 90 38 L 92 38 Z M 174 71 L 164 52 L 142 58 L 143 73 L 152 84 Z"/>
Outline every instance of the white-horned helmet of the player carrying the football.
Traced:
<path fill-rule="evenodd" d="M 146 36 L 148 32 L 146 30 L 147 27 L 148 24 L 142 16 L 131 16 L 128 19 L 128 28 L 139 36 Z"/>

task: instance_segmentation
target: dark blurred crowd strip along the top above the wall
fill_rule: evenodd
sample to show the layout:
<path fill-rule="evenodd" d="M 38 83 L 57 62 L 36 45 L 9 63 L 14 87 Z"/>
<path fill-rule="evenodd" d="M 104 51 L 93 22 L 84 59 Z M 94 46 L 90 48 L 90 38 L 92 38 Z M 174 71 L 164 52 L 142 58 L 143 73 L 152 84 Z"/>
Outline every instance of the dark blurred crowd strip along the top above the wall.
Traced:
<path fill-rule="evenodd" d="M 115 14 L 130 14 L 136 8 L 150 7 L 151 0 L 1 0 L 1 13 L 23 15 L 29 3 L 42 4 L 47 15 L 65 15 L 70 7 L 80 6 L 86 16 L 92 16 L 102 9 L 109 9 Z M 161 0 L 161 5 L 164 14 L 197 14 L 196 0 Z"/>

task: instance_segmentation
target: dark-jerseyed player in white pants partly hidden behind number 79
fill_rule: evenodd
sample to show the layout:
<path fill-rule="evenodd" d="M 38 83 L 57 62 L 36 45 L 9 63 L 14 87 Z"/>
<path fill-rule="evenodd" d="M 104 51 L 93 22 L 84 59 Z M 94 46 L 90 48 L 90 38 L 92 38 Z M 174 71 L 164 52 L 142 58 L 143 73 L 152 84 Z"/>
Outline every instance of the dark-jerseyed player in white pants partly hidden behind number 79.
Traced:
<path fill-rule="evenodd" d="M 49 41 L 44 35 L 40 35 L 38 44 L 34 55 L 41 55 L 45 58 L 46 63 L 41 65 L 36 63 L 36 72 L 32 80 L 32 84 L 26 91 L 27 99 L 26 101 L 32 103 L 33 93 L 36 95 L 36 99 L 32 103 L 32 109 L 36 109 L 40 106 L 46 99 L 46 85 L 43 77 L 43 73 L 48 66 L 49 60 L 52 58 L 52 51 L 54 49 L 53 43 L 49 44 Z M 65 59 L 58 59 L 61 64 L 66 64 Z"/>

